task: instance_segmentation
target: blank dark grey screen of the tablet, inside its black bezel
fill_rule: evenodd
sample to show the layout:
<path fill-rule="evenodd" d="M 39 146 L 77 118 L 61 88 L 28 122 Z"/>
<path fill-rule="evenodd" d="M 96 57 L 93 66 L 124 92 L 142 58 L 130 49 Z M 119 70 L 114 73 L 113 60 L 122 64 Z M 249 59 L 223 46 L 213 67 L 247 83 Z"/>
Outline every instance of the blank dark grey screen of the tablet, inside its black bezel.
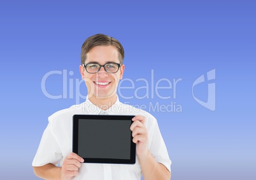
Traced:
<path fill-rule="evenodd" d="M 84 158 L 130 158 L 131 121 L 79 120 L 78 154 Z"/>

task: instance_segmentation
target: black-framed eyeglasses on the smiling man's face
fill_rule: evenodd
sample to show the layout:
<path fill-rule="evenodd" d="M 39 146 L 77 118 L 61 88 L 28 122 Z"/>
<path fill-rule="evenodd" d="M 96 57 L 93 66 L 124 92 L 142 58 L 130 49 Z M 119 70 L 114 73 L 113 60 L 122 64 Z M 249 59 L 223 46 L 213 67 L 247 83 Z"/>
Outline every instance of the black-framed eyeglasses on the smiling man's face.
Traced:
<path fill-rule="evenodd" d="M 120 63 L 106 63 L 104 65 L 99 65 L 98 63 L 88 63 L 83 64 L 83 67 L 85 67 L 85 70 L 90 74 L 99 72 L 101 67 L 104 67 L 104 70 L 108 73 L 115 73 L 118 72 L 120 65 Z"/>

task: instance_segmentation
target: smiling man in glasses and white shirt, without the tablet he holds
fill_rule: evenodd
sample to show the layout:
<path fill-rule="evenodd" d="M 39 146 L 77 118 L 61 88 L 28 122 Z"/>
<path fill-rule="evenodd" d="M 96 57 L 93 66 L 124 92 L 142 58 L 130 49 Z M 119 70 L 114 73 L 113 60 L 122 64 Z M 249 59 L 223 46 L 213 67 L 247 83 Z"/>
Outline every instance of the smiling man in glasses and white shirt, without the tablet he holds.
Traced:
<path fill-rule="evenodd" d="M 80 106 L 53 113 L 43 133 L 32 166 L 43 179 L 170 179 L 171 160 L 150 113 L 120 103 L 118 81 L 124 75 L 124 48 L 113 37 L 96 34 L 82 46 L 80 73 L 88 89 Z M 74 114 L 136 115 L 131 131 L 136 143 L 136 164 L 86 164 L 72 153 Z M 117 145 L 118 146 L 118 145 Z M 58 167 L 57 165 L 60 164 Z"/>

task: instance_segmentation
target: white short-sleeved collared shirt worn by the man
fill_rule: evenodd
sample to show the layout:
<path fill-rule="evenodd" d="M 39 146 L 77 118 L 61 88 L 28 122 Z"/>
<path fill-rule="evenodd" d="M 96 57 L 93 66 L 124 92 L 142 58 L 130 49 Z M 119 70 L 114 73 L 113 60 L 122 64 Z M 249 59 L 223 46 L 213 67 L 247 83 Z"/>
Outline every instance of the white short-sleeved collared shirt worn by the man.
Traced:
<path fill-rule="evenodd" d="M 117 101 L 108 110 L 103 111 L 88 99 L 70 108 L 60 110 L 48 117 L 48 125 L 43 132 L 41 142 L 32 162 L 32 166 L 42 166 L 48 163 L 54 165 L 63 163 L 64 158 L 72 152 L 73 115 L 99 113 L 109 115 L 143 115 L 146 117 L 145 126 L 148 130 L 148 148 L 155 160 L 171 171 L 171 160 L 167 153 L 166 145 L 159 131 L 157 120 L 144 110 L 139 110 L 130 105 L 124 105 Z M 88 164 L 83 163 L 79 174 L 74 179 L 141 179 L 141 167 L 136 157 L 136 164 Z"/>

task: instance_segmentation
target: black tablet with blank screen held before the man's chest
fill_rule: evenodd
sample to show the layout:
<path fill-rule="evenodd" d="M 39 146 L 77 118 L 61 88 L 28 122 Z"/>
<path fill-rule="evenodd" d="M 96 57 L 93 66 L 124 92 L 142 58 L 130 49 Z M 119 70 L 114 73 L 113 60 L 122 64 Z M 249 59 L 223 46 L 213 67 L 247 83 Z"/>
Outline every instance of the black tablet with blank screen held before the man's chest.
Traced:
<path fill-rule="evenodd" d="M 85 163 L 135 164 L 134 115 L 73 115 L 73 152 Z"/>

